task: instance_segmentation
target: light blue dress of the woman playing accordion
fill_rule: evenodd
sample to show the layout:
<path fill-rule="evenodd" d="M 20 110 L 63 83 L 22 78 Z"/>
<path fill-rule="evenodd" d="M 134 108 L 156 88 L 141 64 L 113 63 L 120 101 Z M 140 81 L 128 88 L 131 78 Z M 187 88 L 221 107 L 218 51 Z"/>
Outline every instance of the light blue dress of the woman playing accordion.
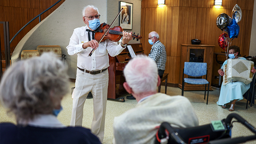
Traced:
<path fill-rule="evenodd" d="M 245 59 L 243 57 L 239 57 L 239 59 Z M 222 65 L 222 69 L 223 66 L 227 64 L 227 60 L 225 60 L 225 62 Z M 237 82 L 230 82 L 227 85 L 223 85 L 222 82 L 222 86 L 220 89 L 220 96 L 219 96 L 219 100 L 217 101 L 218 105 L 224 105 L 226 103 L 229 103 L 233 100 L 242 100 L 243 96 L 245 94 L 245 92 L 247 90 L 250 89 L 250 84 L 245 85 L 243 82 L 237 81 Z"/>

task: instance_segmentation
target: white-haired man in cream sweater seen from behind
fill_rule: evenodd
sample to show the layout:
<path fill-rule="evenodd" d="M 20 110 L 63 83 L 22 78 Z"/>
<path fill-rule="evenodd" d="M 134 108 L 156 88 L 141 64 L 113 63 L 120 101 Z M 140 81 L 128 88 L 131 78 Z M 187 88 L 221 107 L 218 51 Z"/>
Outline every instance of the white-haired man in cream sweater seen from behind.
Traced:
<path fill-rule="evenodd" d="M 138 55 L 130 60 L 124 77 L 124 88 L 138 103 L 114 118 L 114 144 L 153 144 L 162 122 L 178 128 L 198 126 L 197 115 L 186 97 L 157 93 L 161 81 L 151 58 Z"/>

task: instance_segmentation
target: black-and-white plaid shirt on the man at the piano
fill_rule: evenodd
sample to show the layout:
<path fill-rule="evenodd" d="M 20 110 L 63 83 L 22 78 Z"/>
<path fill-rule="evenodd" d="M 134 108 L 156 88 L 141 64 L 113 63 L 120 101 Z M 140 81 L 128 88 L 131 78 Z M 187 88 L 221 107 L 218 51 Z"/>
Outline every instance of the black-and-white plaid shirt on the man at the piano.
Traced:
<path fill-rule="evenodd" d="M 160 41 L 157 41 L 151 47 L 149 57 L 156 62 L 158 69 L 165 70 L 166 51 L 165 46 Z"/>

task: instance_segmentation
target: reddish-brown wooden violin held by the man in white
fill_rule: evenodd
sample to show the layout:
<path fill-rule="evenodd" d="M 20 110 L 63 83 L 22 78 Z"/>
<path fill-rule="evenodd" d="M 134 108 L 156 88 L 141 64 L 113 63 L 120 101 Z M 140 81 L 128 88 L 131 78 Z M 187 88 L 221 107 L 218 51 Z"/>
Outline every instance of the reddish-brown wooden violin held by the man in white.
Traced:
<path fill-rule="evenodd" d="M 108 30 L 108 28 L 110 27 L 110 25 L 104 23 L 101 23 L 100 27 L 98 28 L 98 30 L 96 30 L 95 34 L 94 34 L 94 39 L 95 40 L 100 40 L 103 36 L 103 34 L 106 33 L 106 31 Z M 109 31 L 105 34 L 105 36 L 103 37 L 103 41 L 105 41 L 106 39 L 110 39 L 110 41 L 113 42 L 117 42 L 119 41 L 123 36 L 123 28 L 121 26 L 115 26 L 113 28 L 109 28 Z M 133 40 L 136 38 L 137 41 L 139 41 L 139 39 L 142 39 L 141 36 L 132 34 Z"/>

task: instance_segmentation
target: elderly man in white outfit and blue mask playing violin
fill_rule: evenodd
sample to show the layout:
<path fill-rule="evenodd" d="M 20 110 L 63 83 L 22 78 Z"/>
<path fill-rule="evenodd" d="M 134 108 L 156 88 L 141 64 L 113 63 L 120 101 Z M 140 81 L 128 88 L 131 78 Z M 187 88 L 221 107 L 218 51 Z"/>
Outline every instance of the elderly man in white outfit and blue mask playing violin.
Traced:
<path fill-rule="evenodd" d="M 69 55 L 77 55 L 77 72 L 73 97 L 73 109 L 70 126 L 82 126 L 83 107 L 89 92 L 94 101 L 94 116 L 91 132 L 103 142 L 108 89 L 108 54 L 114 57 L 121 53 L 132 39 L 132 32 L 123 31 L 120 44 L 106 39 L 98 43 L 94 31 L 100 26 L 97 7 L 88 5 L 82 10 L 82 19 L 86 26 L 75 28 L 68 49 Z M 88 57 L 92 49 L 95 52 Z"/>

